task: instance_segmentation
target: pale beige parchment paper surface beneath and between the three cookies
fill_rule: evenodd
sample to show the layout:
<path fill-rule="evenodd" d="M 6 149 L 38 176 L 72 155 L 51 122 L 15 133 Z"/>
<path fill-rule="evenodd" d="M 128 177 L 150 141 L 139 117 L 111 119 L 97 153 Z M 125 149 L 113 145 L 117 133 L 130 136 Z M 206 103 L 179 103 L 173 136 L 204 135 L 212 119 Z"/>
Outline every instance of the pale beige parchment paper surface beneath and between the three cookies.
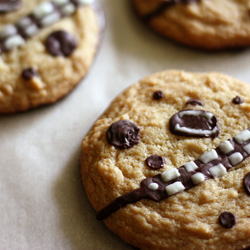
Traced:
<path fill-rule="evenodd" d="M 131 250 L 95 219 L 79 175 L 81 140 L 110 101 L 165 69 L 218 71 L 250 82 L 250 49 L 173 44 L 144 27 L 128 0 L 99 0 L 106 31 L 82 83 L 58 103 L 0 117 L 0 249 Z"/>

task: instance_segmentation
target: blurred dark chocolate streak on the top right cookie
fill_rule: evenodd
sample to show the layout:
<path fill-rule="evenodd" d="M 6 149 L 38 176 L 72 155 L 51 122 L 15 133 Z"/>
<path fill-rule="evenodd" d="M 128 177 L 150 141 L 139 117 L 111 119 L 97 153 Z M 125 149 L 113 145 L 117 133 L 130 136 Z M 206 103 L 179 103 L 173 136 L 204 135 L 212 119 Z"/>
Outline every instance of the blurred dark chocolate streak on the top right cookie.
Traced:
<path fill-rule="evenodd" d="M 201 0 L 169 0 L 162 2 L 154 11 L 148 13 L 143 17 L 144 22 L 149 22 L 152 18 L 160 16 L 165 10 L 175 4 L 189 4 L 193 2 L 200 2 Z"/>

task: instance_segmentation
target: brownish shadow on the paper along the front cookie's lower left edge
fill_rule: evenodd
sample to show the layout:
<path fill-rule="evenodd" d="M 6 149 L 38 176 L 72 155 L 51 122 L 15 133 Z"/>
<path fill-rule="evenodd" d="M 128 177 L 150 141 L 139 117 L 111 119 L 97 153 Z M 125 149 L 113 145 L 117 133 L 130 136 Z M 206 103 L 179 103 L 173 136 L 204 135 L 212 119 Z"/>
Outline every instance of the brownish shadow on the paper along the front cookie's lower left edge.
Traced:
<path fill-rule="evenodd" d="M 96 220 L 81 183 L 80 154 L 79 146 L 53 186 L 64 236 L 76 250 L 134 249 Z"/>

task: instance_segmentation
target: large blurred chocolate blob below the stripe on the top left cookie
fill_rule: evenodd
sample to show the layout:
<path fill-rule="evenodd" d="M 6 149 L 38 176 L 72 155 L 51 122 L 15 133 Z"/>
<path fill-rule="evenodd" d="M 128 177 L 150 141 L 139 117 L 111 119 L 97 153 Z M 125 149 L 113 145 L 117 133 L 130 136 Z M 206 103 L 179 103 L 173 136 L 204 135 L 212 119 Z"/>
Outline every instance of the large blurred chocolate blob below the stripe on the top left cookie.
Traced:
<path fill-rule="evenodd" d="M 58 30 L 47 37 L 45 45 L 51 55 L 67 57 L 75 50 L 77 41 L 68 32 Z"/>

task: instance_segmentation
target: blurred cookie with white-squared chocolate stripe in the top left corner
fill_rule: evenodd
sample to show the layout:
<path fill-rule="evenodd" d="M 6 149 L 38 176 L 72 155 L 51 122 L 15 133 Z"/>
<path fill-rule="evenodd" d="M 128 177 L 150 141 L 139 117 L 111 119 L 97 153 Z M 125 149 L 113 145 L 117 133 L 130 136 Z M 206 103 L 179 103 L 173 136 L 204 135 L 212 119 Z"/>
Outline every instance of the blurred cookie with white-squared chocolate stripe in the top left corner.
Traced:
<path fill-rule="evenodd" d="M 57 101 L 86 75 L 104 25 L 90 0 L 0 0 L 0 113 Z"/>

